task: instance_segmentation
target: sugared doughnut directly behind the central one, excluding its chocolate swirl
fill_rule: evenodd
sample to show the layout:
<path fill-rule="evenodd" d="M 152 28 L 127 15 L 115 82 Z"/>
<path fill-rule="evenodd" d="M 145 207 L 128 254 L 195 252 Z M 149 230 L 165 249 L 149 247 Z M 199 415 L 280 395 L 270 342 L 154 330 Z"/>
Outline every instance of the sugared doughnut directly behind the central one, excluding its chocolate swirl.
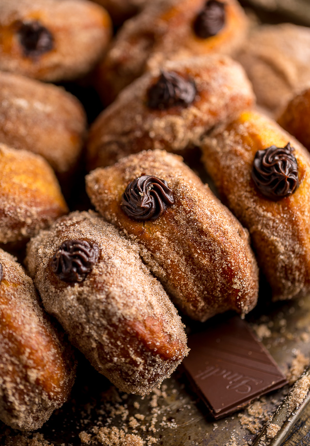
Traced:
<path fill-rule="evenodd" d="M 159 70 L 144 74 L 94 122 L 87 148 L 90 169 L 114 164 L 141 150 L 185 153 L 200 144 L 205 132 L 233 119 L 254 102 L 242 67 L 229 57 L 210 55 L 166 62 L 162 69 L 196 83 L 194 102 L 188 107 L 150 109 L 147 92 L 157 81 Z"/>

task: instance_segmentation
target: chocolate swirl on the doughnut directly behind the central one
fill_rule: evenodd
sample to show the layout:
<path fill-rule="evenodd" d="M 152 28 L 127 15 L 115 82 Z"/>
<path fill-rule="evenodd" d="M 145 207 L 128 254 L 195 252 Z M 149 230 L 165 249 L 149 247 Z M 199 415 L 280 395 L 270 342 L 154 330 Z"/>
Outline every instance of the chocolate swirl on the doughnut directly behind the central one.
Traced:
<path fill-rule="evenodd" d="M 149 88 L 147 105 L 165 110 L 180 105 L 187 107 L 196 97 L 194 81 L 186 80 L 173 71 L 162 71 L 158 81 Z"/>

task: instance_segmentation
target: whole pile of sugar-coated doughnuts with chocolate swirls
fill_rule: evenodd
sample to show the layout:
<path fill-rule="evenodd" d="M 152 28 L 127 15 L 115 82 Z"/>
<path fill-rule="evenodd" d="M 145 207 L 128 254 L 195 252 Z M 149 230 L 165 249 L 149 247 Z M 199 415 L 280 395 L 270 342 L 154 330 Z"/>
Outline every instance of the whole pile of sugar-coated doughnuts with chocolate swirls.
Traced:
<path fill-rule="evenodd" d="M 310 292 L 309 41 L 236 0 L 0 2 L 1 421 L 68 399 L 72 346 L 145 395 L 188 353 L 178 311 L 244 317 L 259 271 Z"/>

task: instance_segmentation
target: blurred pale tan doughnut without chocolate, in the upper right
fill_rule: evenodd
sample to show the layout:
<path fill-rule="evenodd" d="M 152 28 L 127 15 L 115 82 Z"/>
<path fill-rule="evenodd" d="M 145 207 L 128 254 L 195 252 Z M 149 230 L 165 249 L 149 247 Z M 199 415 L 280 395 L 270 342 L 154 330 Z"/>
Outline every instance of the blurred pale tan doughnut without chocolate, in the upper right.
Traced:
<path fill-rule="evenodd" d="M 276 111 L 294 92 L 310 86 L 310 30 L 281 23 L 256 28 L 238 60 L 260 105 Z"/>

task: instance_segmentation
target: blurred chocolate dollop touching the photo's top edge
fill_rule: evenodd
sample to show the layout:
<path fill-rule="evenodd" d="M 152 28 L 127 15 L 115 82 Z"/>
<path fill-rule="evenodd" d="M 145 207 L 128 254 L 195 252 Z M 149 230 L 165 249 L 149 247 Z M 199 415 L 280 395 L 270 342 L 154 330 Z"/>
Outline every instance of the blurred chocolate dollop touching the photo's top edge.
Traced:
<path fill-rule="evenodd" d="M 217 35 L 225 25 L 225 16 L 225 3 L 217 0 L 206 1 L 194 21 L 196 35 L 202 39 Z"/>

